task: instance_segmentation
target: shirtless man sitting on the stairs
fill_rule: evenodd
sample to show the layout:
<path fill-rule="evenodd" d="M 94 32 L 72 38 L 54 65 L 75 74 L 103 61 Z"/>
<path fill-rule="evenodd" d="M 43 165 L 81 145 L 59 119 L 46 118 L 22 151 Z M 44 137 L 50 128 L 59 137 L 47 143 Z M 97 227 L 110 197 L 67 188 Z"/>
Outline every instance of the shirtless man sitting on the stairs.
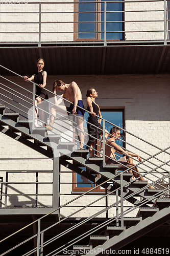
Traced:
<path fill-rule="evenodd" d="M 110 137 L 110 139 L 107 140 L 106 142 L 106 164 L 116 164 L 118 166 L 118 170 L 126 170 L 127 168 L 133 167 L 135 164 L 133 163 L 133 159 L 128 157 L 128 156 L 124 156 L 120 159 L 118 159 L 118 163 L 115 161 L 116 157 L 115 157 L 115 152 L 119 153 L 119 154 L 126 154 L 129 155 L 131 157 L 137 157 L 138 161 L 142 161 L 141 158 L 134 153 L 125 151 L 121 146 L 117 145 L 115 143 L 115 140 L 118 140 L 118 138 L 120 137 L 120 129 L 118 127 L 112 127 L 110 130 L 110 134 L 112 134 L 113 136 Z M 115 136 L 115 137 L 114 137 Z M 108 146 L 109 145 L 109 146 Z M 111 147 L 110 147 L 111 146 Z M 108 158 L 108 157 L 112 158 Z M 126 166 L 124 166 L 126 165 Z M 135 170 L 135 172 L 134 172 Z M 140 177 L 140 173 L 138 171 L 138 168 L 135 166 L 132 169 L 128 170 L 129 173 L 133 174 L 133 178 L 138 178 L 138 180 L 142 180 L 144 181 L 143 177 Z M 136 173 L 137 172 L 137 173 Z M 150 186 L 149 188 L 154 188 L 153 186 Z"/>

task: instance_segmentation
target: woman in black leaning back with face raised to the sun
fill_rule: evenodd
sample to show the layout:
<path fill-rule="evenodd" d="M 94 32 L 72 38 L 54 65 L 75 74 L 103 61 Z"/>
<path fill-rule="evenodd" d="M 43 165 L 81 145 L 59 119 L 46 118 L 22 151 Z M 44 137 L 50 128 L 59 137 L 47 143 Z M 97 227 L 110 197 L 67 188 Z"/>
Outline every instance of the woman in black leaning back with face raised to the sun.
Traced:
<path fill-rule="evenodd" d="M 89 146 L 89 153 L 90 157 L 94 156 L 94 144 L 95 144 L 95 138 L 98 138 L 100 135 L 103 135 L 103 127 L 101 125 L 102 119 L 99 119 L 97 116 L 101 115 L 101 111 L 99 108 L 99 105 L 95 103 L 95 98 L 98 97 L 98 93 L 95 91 L 94 88 L 89 89 L 87 91 L 87 110 L 91 112 L 91 115 L 89 114 L 88 117 L 88 124 L 87 124 L 87 129 L 88 129 L 88 134 L 89 134 L 89 140 L 87 142 L 87 145 Z M 108 137 L 108 131 L 105 130 L 105 139 Z M 91 136 L 90 136 L 91 135 Z M 94 138 L 93 138 L 93 137 Z M 103 157 L 103 143 L 101 143 L 101 157 Z"/>

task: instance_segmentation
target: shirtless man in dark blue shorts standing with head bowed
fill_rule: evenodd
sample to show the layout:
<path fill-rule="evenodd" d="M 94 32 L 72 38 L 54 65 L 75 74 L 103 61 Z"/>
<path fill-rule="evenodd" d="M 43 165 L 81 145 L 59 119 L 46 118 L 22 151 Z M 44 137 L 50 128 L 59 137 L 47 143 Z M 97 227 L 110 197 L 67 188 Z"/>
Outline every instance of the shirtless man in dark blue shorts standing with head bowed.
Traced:
<path fill-rule="evenodd" d="M 55 80 L 53 83 L 53 92 L 56 94 L 57 91 L 64 92 L 61 97 L 64 99 L 68 99 L 72 104 L 70 104 L 69 107 L 60 106 L 62 109 L 68 111 L 70 114 L 76 114 L 79 116 L 77 119 L 77 127 L 80 132 L 80 147 L 79 149 L 83 148 L 84 143 L 84 129 L 83 129 L 83 119 L 84 119 L 84 105 L 82 101 L 82 94 L 80 91 L 80 88 L 78 87 L 76 82 L 71 83 L 64 83 L 61 80 Z M 59 110 L 56 106 L 61 104 L 62 98 L 59 98 L 57 100 L 56 95 L 54 95 L 54 103 L 55 105 L 51 106 L 50 113 L 54 116 L 56 116 L 56 112 Z M 79 106 L 83 109 L 80 109 Z M 53 130 L 53 124 L 54 124 L 54 116 L 50 116 L 50 123 L 48 126 L 46 126 L 46 130 Z"/>

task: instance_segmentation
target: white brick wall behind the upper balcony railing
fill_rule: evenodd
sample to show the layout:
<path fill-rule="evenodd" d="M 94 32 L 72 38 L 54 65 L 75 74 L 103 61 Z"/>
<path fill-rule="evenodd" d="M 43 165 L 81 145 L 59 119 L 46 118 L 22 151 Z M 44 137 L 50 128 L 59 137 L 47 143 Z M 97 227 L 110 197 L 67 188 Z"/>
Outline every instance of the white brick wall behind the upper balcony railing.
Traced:
<path fill-rule="evenodd" d="M 37 42 L 39 31 L 39 4 L 37 0 L 33 0 L 35 4 L 21 4 L 22 0 L 18 0 L 20 5 L 11 5 L 10 0 L 4 0 L 0 5 L 0 22 L 20 22 L 21 24 L 0 24 L 0 32 L 20 32 L 17 34 L 3 33 L 1 34 L 2 42 Z M 13 2 L 13 1 L 12 1 Z M 62 13 L 42 13 L 41 15 L 41 41 L 73 41 L 74 24 L 76 16 L 74 15 L 74 4 L 70 1 L 63 1 L 63 4 L 43 4 L 51 2 L 50 0 L 41 1 L 42 12 L 62 12 Z M 60 1 L 54 1 L 60 2 Z M 67 2 L 67 4 L 64 4 Z M 3 2 L 2 2 L 3 3 Z M 23 1 L 23 3 L 25 3 Z M 27 3 L 27 2 L 26 2 Z M 144 2 L 125 3 L 125 39 L 126 40 L 162 40 L 164 39 L 164 2 Z M 15 14 L 9 12 L 14 11 Z M 25 12 L 32 13 L 25 13 Z M 140 12 L 139 12 L 140 11 Z M 16 13 L 22 12 L 22 13 Z M 69 12 L 69 13 L 67 13 Z M 114 15 L 114 14 L 113 14 Z M 139 22 L 140 21 L 140 22 Z M 23 24 L 23 22 L 31 22 L 31 24 Z M 37 24 L 35 24 L 35 22 Z M 44 24 L 44 22 L 47 22 Z M 58 22 L 57 24 L 53 22 Z M 68 22 L 68 23 L 67 23 Z M 138 31 L 138 32 L 136 32 Z M 143 31 L 143 32 L 142 32 Z M 152 31 L 152 32 L 147 32 Z M 155 32 L 154 32 L 155 31 Z M 27 34 L 29 32 L 29 34 Z M 31 32 L 31 33 L 30 33 Z M 52 32 L 52 33 L 50 33 Z M 56 33 L 57 32 L 57 33 Z M 61 33 L 62 32 L 62 33 Z M 76 32 L 76 31 L 75 31 Z"/>

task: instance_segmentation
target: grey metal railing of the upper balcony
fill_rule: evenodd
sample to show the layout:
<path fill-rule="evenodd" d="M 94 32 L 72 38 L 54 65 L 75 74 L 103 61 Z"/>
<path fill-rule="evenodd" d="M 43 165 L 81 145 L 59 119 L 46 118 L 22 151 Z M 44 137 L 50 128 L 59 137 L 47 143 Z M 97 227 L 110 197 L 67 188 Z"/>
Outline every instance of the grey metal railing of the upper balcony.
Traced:
<path fill-rule="evenodd" d="M 1 0 L 1 45 L 104 45 L 169 41 L 166 0 L 28 2 Z"/>

